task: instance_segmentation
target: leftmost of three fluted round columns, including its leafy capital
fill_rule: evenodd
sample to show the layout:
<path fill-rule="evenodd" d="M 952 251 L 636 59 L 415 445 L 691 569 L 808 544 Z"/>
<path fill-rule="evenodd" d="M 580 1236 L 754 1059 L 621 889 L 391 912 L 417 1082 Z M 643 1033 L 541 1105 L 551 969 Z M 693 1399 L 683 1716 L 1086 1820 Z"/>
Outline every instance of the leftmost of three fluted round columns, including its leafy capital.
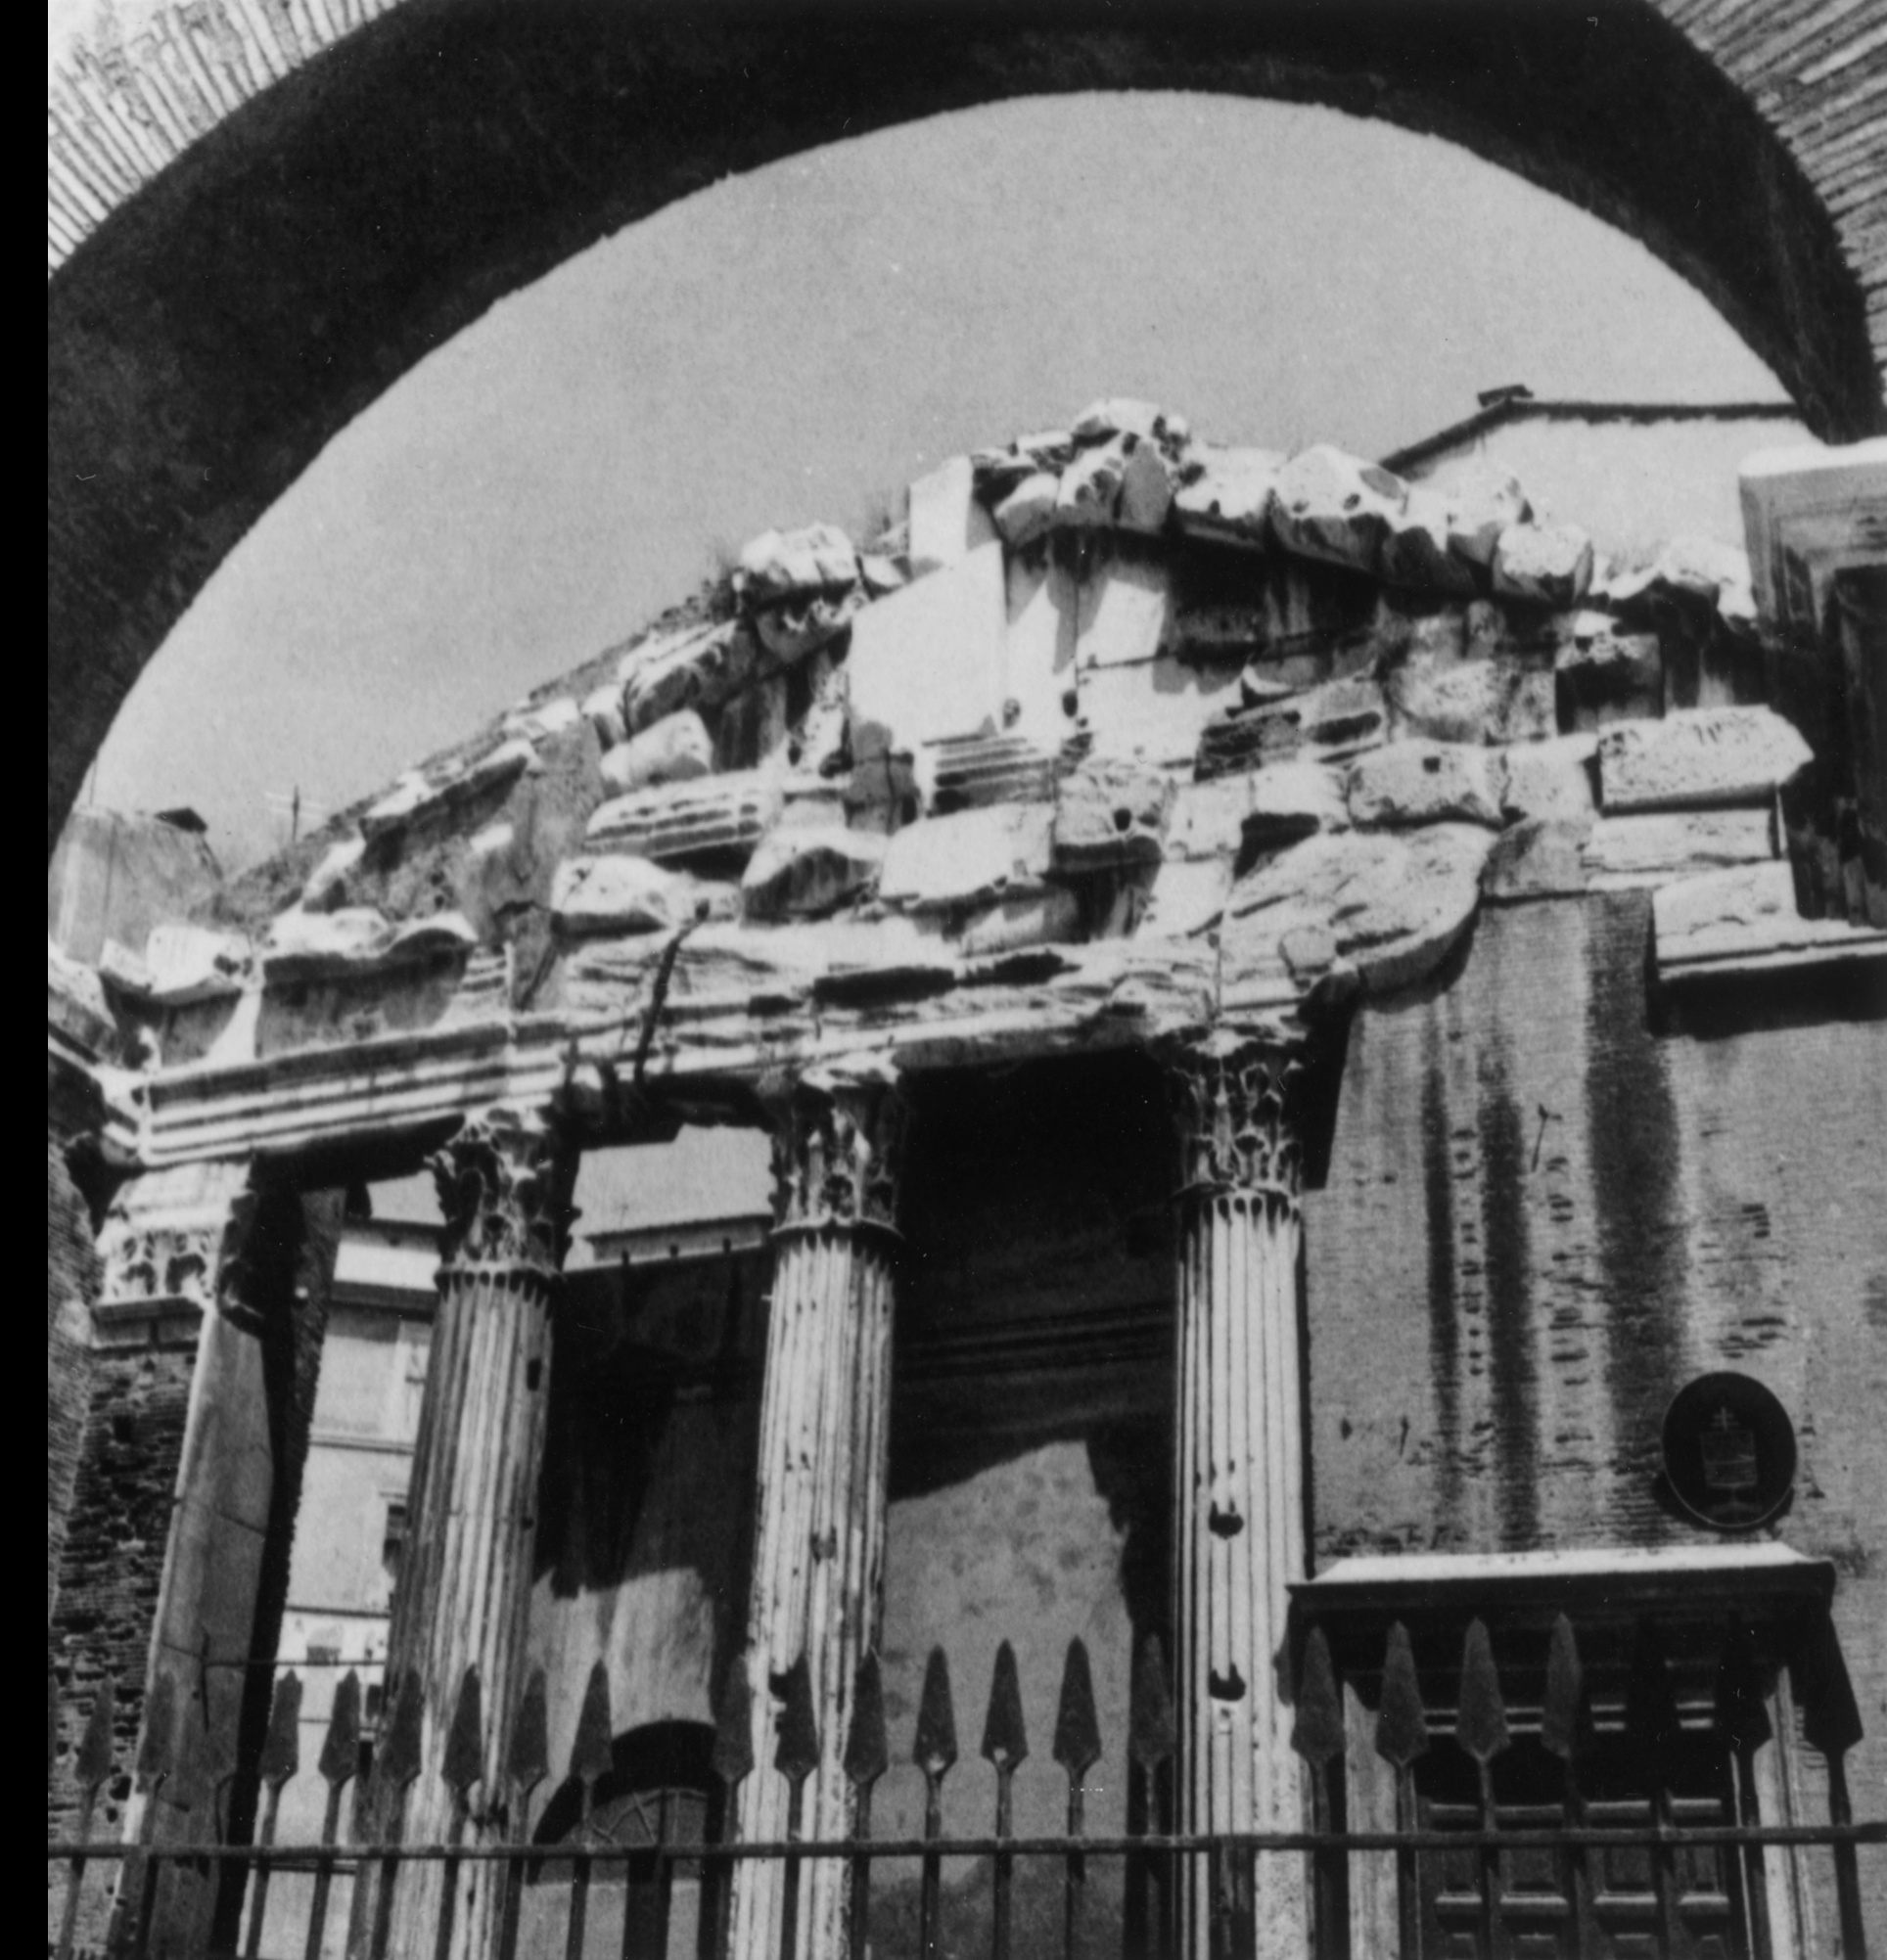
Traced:
<path fill-rule="evenodd" d="M 411 1670 L 423 1691 L 419 1774 L 400 1835 L 439 1842 L 453 1831 L 441 1766 L 466 1670 L 478 1670 L 484 1778 L 472 1791 L 466 1842 L 504 1838 L 502 1766 L 519 1697 L 537 1470 L 551 1372 L 551 1290 L 570 1217 L 568 1170 L 541 1121 L 494 1109 L 468 1121 L 433 1158 L 445 1213 L 439 1311 L 419 1405 L 408 1495 L 406 1558 L 386 1642 L 386 1705 Z M 394 1823 L 396 1793 L 372 1797 L 372 1829 Z M 363 1872 L 349 1952 L 390 1911 L 388 1954 L 435 1952 L 445 1868 L 410 1862 L 390 1901 Z M 453 1960 L 498 1948 L 500 1866 L 457 1866 Z"/>

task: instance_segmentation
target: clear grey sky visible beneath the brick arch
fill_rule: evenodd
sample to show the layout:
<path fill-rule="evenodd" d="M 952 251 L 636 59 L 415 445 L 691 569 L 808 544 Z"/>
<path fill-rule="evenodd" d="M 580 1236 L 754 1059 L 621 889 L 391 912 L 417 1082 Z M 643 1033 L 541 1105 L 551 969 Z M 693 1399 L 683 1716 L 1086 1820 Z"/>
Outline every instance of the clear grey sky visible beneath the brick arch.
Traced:
<path fill-rule="evenodd" d="M 1779 398 L 1642 247 L 1432 137 L 1213 96 L 943 116 L 729 178 L 500 302 L 221 566 L 102 804 L 345 804 L 631 633 L 770 525 L 1137 394 L 1381 453 L 1479 388 Z"/>

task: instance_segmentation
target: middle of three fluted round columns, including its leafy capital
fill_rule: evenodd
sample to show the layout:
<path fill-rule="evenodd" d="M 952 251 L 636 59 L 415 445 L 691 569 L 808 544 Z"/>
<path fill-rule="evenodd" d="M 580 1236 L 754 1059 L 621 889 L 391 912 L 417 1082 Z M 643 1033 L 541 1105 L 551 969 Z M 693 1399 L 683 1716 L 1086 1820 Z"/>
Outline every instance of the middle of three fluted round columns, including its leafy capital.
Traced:
<path fill-rule="evenodd" d="M 890 1074 L 805 1078 L 774 1131 L 774 1290 L 760 1396 L 760 1490 L 747 1666 L 754 1770 L 741 1837 L 782 1838 L 790 1791 L 774 1770 L 778 1684 L 803 1656 L 819 1729 L 799 1833 L 843 1837 L 852 1791 L 841 1770 L 852 1680 L 884 1609 L 886 1464 L 892 1405 L 892 1262 L 903 1103 Z M 784 1868 L 735 1868 L 735 1960 L 780 1948 Z M 843 1954 L 847 1872 L 807 1866 L 796 1952 Z"/>

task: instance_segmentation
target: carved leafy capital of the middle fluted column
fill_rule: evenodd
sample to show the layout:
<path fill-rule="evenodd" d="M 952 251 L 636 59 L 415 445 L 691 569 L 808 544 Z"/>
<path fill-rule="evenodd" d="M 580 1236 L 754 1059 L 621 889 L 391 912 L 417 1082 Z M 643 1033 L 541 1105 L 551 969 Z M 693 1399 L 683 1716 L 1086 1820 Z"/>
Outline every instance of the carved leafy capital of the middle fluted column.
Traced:
<path fill-rule="evenodd" d="M 801 1076 L 774 1125 L 774 1229 L 897 1229 L 905 1102 L 895 1072 Z"/>

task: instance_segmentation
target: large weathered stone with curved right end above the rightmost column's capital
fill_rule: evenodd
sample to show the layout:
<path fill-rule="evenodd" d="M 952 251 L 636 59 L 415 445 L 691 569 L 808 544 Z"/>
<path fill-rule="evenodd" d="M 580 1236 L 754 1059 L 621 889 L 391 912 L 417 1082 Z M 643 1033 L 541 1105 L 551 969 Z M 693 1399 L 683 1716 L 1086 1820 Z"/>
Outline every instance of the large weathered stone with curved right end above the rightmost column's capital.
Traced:
<path fill-rule="evenodd" d="M 1474 923 L 1491 847 L 1489 831 L 1464 823 L 1295 845 L 1233 886 L 1221 937 L 1227 986 L 1282 978 L 1305 988 L 1338 964 L 1372 994 L 1411 986 Z"/>

